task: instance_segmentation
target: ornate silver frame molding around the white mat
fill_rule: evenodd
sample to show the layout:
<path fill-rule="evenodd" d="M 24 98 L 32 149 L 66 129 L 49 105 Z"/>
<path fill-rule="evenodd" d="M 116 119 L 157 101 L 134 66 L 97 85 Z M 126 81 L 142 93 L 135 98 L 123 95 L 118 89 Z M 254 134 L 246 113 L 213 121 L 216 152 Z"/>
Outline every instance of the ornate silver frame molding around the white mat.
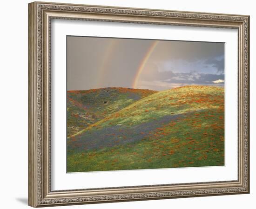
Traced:
<path fill-rule="evenodd" d="M 236 181 L 52 191 L 50 184 L 50 27 L 52 19 L 236 28 Z M 28 205 L 32 207 L 249 193 L 249 16 L 33 2 L 28 4 Z"/>

